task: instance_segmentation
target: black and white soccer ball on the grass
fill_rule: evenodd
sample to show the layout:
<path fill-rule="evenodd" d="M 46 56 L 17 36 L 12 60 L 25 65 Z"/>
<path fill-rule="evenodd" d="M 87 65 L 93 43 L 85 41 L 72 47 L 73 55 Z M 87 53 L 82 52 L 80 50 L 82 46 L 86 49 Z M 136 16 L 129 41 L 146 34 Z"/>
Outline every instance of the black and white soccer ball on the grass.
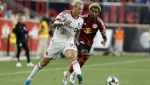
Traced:
<path fill-rule="evenodd" d="M 119 85 L 119 80 L 116 76 L 109 76 L 106 80 L 106 85 Z"/>

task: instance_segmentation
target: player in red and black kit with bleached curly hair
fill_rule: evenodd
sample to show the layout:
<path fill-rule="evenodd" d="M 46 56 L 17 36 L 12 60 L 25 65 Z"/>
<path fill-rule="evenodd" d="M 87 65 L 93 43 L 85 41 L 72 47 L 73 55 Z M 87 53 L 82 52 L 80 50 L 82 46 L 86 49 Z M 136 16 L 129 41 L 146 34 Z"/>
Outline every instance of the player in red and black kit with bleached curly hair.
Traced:
<path fill-rule="evenodd" d="M 84 65 L 84 63 L 90 57 L 90 50 L 94 41 L 94 37 L 99 30 L 101 32 L 103 41 L 101 44 L 105 46 L 107 42 L 105 24 L 101 18 L 98 17 L 98 14 L 101 11 L 101 7 L 98 3 L 92 3 L 89 6 L 90 13 L 83 15 L 84 24 L 82 29 L 80 29 L 80 33 L 78 35 L 78 40 L 76 42 L 78 48 L 78 62 L 80 64 L 80 68 Z M 67 84 L 68 76 L 70 75 L 70 83 L 74 85 L 76 74 L 73 71 L 73 67 L 70 66 L 68 71 L 64 72 L 63 85 Z"/>

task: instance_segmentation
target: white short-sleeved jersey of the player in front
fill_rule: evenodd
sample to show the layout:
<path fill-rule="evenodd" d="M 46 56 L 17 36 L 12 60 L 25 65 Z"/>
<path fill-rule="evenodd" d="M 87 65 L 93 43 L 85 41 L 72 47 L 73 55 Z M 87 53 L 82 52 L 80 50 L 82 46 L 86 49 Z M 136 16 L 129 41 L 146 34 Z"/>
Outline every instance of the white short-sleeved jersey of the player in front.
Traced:
<path fill-rule="evenodd" d="M 55 20 L 61 20 L 62 22 L 65 22 L 66 20 L 71 20 L 71 23 L 69 25 L 57 26 L 52 40 L 54 42 L 74 42 L 74 35 L 77 30 L 80 30 L 82 28 L 83 19 L 81 17 L 73 18 L 72 11 L 66 10 L 61 12 Z"/>

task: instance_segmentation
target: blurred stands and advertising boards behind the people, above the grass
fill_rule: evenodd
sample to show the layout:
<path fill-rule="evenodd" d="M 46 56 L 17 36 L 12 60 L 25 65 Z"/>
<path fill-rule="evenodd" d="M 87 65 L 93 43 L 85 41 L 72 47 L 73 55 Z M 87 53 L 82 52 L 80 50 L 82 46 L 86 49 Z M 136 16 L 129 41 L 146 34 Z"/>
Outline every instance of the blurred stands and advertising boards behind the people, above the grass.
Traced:
<path fill-rule="evenodd" d="M 71 9 L 73 0 L 0 0 L 0 55 L 11 56 L 13 46 L 10 40 L 12 27 L 19 14 L 24 14 L 24 23 L 32 34 L 28 44 L 30 54 L 34 55 L 38 44 L 38 26 L 43 16 L 48 13 L 53 22 L 58 13 Z M 102 7 L 100 17 L 106 24 L 108 43 L 103 47 L 100 33 L 97 33 L 93 53 L 109 48 L 115 28 L 121 26 L 125 32 L 124 53 L 149 54 L 150 0 L 83 0 L 83 14 L 88 13 L 88 6 L 97 2 Z"/>

